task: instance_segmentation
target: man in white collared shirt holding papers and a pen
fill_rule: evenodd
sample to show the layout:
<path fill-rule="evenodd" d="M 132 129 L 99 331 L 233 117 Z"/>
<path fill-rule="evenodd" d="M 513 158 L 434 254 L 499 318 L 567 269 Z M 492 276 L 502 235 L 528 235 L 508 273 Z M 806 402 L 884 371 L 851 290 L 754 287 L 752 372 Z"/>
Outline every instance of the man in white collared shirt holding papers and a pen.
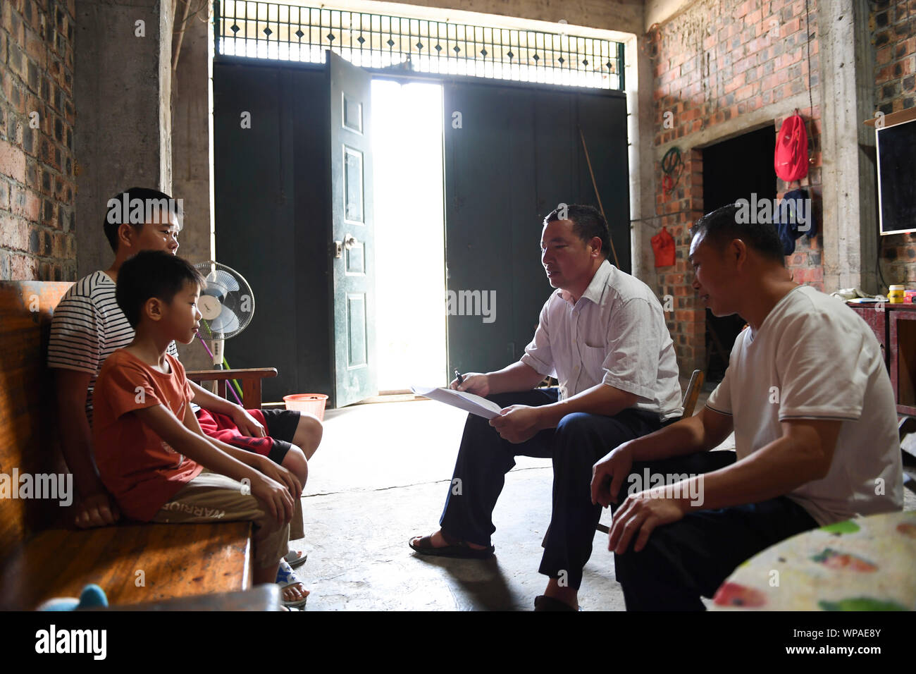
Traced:
<path fill-rule="evenodd" d="M 588 493 L 594 460 L 682 414 L 661 305 L 645 283 L 606 260 L 609 240 L 605 218 L 592 206 L 562 206 L 544 219 L 541 262 L 557 291 L 518 362 L 452 382 L 503 410 L 489 421 L 468 416 L 442 529 L 409 544 L 427 555 L 492 556 L 493 508 L 515 457 L 551 457 L 553 512 L 540 564 L 551 580 L 536 610 L 578 607 L 601 515 Z M 559 391 L 532 390 L 548 375 Z"/>

